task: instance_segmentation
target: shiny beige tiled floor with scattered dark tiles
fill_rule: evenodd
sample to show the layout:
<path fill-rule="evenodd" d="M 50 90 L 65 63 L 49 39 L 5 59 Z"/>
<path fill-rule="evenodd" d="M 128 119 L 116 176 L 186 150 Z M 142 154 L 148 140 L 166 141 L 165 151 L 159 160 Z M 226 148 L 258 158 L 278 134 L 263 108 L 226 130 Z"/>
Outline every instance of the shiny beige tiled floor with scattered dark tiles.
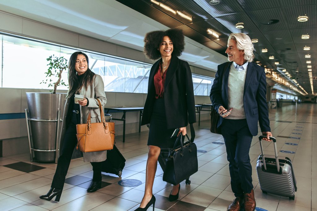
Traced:
<path fill-rule="evenodd" d="M 313 129 L 317 126 L 317 105 L 299 104 L 298 115 L 294 113 L 294 105 L 270 109 L 269 119 L 272 133 L 277 138 L 278 151 L 284 150 L 279 155 L 293 161 L 298 187 L 295 200 L 262 193 L 255 170 L 260 147 L 257 137 L 254 137 L 250 159 L 258 211 L 317 211 L 317 132 Z M 155 210 L 226 210 L 233 200 L 222 136 L 210 133 L 208 127 L 209 121 L 202 121 L 200 127 L 195 125 L 199 169 L 190 177 L 190 185 L 181 183 L 179 201 L 168 201 L 171 185 L 162 180 L 163 171 L 158 166 L 153 187 Z M 92 178 L 91 165 L 84 163 L 82 158 L 72 160 L 60 202 L 39 199 L 50 188 L 56 164 L 31 163 L 28 154 L 0 158 L 0 210 L 136 209 L 145 187 L 147 135 L 147 132 L 128 134 L 126 143 L 122 143 L 122 137 L 116 138 L 116 146 L 126 158 L 123 174 L 118 177 L 104 173 L 102 188 L 94 193 L 86 192 Z M 272 143 L 264 142 L 263 146 L 265 153 L 273 154 Z M 136 187 L 133 184 L 137 183 L 120 186 L 118 182 L 125 179 L 140 182 Z"/>

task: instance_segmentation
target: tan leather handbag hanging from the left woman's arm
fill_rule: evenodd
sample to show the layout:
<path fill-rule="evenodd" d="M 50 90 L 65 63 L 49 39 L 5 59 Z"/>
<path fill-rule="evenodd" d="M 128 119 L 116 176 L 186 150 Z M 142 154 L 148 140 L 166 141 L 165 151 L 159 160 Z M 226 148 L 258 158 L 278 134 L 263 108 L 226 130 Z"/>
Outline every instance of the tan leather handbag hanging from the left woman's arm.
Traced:
<path fill-rule="evenodd" d="M 114 122 L 106 122 L 101 102 L 97 99 L 101 122 L 90 123 L 91 109 L 86 124 L 77 124 L 77 146 L 81 152 L 99 152 L 113 149 L 114 143 Z"/>

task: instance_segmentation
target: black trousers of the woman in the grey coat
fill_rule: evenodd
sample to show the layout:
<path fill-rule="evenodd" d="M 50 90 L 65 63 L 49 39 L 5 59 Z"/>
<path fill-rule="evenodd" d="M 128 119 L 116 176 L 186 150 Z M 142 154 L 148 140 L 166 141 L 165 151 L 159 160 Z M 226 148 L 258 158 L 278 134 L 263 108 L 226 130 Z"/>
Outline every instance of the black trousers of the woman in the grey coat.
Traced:
<path fill-rule="evenodd" d="M 76 138 L 76 125 L 71 124 L 66 129 L 64 136 L 63 146 L 61 147 L 60 157 L 57 161 L 57 168 L 53 178 L 51 187 L 63 189 L 65 183 L 65 177 L 69 168 L 70 160 L 72 159 L 72 154 L 74 148 L 77 144 Z M 97 182 L 101 180 L 101 162 L 92 162 L 93 166 L 93 181 Z"/>

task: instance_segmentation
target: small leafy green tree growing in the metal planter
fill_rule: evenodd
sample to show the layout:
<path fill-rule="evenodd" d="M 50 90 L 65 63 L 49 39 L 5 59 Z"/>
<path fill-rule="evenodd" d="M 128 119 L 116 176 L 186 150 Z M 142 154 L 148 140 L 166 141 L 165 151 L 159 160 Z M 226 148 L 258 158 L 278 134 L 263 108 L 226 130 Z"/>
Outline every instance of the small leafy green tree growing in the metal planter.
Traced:
<path fill-rule="evenodd" d="M 57 57 L 54 54 L 46 60 L 49 62 L 49 68 L 47 69 L 47 72 L 45 72 L 45 77 L 47 79 L 43 80 L 40 84 L 49 84 L 49 87 L 53 86 L 54 88 L 50 92 L 55 94 L 59 85 L 67 86 L 67 84 L 65 84 L 65 82 L 61 79 L 61 73 L 68 68 L 68 61 L 63 56 Z M 52 83 L 52 78 L 57 78 L 57 81 Z"/>

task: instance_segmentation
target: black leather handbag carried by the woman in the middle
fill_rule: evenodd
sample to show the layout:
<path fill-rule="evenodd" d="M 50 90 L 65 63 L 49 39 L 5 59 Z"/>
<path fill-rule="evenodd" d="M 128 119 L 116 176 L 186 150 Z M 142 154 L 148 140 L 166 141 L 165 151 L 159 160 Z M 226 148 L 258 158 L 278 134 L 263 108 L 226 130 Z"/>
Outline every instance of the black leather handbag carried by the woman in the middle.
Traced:
<path fill-rule="evenodd" d="M 163 181 L 177 185 L 198 171 L 197 146 L 186 134 L 188 142 L 183 144 L 182 134 L 177 137 L 167 158 Z"/>

